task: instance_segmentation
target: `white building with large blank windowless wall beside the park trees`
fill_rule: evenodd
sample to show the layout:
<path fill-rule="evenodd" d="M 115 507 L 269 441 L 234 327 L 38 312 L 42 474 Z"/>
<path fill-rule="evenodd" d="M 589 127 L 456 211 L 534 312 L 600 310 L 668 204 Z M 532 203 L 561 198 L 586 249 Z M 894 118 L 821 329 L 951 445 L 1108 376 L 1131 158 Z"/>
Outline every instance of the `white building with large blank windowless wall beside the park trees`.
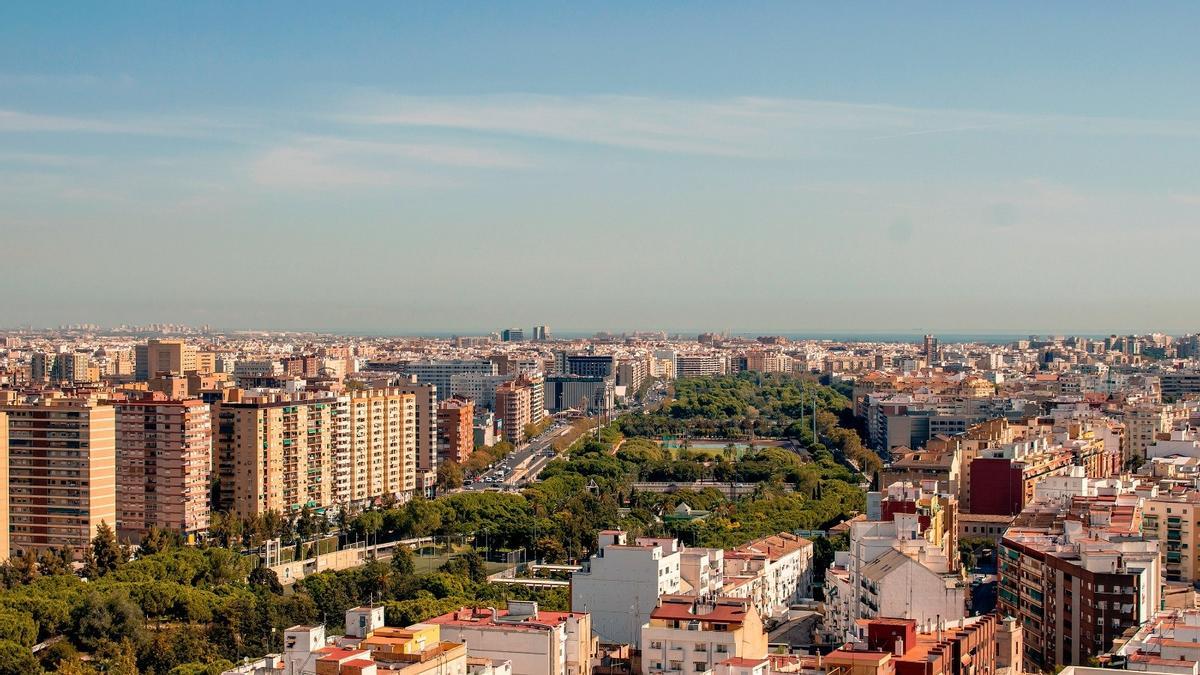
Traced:
<path fill-rule="evenodd" d="M 600 641 L 637 649 L 659 596 L 680 592 L 680 562 L 674 539 L 630 544 L 625 532 L 604 530 L 596 552 L 571 575 L 571 610 L 592 616 Z"/>

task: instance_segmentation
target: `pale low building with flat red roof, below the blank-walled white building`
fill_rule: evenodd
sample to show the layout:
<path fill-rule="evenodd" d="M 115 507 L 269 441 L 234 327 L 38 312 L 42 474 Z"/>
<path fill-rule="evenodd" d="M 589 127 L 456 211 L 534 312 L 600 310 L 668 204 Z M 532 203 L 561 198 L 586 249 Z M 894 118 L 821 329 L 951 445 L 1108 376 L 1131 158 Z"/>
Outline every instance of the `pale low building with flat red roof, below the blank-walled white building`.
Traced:
<path fill-rule="evenodd" d="M 425 623 L 472 656 L 512 663 L 512 675 L 588 675 L 596 651 L 592 619 L 580 611 L 545 611 L 509 601 L 508 609 L 462 608 Z"/>

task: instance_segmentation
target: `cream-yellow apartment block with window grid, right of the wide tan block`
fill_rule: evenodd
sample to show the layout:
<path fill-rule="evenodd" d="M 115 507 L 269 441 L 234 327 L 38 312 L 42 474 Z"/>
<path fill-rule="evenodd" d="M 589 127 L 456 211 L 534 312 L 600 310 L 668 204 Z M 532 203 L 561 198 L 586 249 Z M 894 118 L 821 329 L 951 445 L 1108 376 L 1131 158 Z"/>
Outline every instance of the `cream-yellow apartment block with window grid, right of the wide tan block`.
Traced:
<path fill-rule="evenodd" d="M 416 395 L 400 389 L 350 394 L 348 462 L 335 501 L 361 506 L 416 489 Z"/>

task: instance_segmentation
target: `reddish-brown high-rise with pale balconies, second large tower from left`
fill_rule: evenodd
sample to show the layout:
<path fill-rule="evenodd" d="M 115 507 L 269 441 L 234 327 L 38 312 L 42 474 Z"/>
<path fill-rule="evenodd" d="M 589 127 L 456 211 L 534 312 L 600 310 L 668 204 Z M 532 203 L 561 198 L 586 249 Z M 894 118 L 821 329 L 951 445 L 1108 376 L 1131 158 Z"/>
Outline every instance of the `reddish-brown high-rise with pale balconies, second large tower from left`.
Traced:
<path fill-rule="evenodd" d="M 116 404 L 116 528 L 139 540 L 149 527 L 188 539 L 209 527 L 212 423 L 199 399 L 161 393 Z"/>

